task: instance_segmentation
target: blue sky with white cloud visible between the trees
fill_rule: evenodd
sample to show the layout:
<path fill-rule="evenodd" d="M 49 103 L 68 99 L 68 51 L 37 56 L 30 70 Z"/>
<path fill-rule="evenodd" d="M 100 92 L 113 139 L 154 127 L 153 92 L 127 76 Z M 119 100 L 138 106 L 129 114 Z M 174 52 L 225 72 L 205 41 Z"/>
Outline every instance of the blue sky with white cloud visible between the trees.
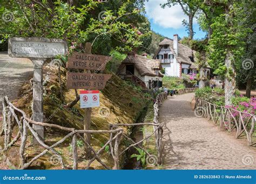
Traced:
<path fill-rule="evenodd" d="M 173 38 L 173 34 L 178 34 L 183 38 L 188 36 L 186 27 L 182 25 L 182 21 L 188 16 L 185 15 L 180 5 L 167 7 L 165 9 L 160 7 L 160 4 L 166 3 L 167 0 L 150 0 L 146 2 L 146 17 L 149 18 L 151 29 L 155 32 L 163 34 L 168 38 Z M 197 20 L 193 20 L 194 39 L 204 38 L 206 33 L 199 30 Z"/>

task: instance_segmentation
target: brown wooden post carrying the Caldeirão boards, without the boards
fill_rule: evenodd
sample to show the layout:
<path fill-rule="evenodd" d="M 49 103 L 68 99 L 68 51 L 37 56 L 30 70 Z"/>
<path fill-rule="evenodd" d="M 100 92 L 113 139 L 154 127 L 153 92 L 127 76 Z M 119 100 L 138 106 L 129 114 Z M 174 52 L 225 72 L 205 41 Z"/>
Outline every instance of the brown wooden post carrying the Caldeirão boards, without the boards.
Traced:
<path fill-rule="evenodd" d="M 85 53 L 91 54 L 92 53 L 92 45 L 91 43 L 85 44 Z M 84 69 L 84 73 L 90 73 L 89 69 Z M 86 89 L 85 89 L 86 90 Z M 85 108 L 84 110 L 84 130 L 91 129 L 91 112 L 92 108 Z M 90 145 L 91 144 L 91 133 L 84 133 L 85 141 Z M 85 157 L 87 159 L 91 158 L 91 148 L 85 145 Z"/>

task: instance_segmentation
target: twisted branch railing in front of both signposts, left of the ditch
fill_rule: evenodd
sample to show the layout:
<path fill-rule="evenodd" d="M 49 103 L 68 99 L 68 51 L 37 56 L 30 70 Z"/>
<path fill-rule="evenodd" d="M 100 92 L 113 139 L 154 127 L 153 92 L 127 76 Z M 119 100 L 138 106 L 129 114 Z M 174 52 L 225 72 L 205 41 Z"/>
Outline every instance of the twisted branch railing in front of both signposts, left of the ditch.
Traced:
<path fill-rule="evenodd" d="M 16 113 L 21 114 L 21 116 L 17 116 Z M 48 146 L 44 143 L 43 140 L 39 138 L 36 131 L 32 128 L 31 124 L 41 125 L 44 127 L 49 128 L 55 128 L 62 131 L 69 132 L 68 135 L 66 135 L 61 140 L 57 141 L 55 144 Z M 18 133 L 14 135 L 14 126 L 18 125 Z M 28 131 L 30 131 L 35 137 L 42 147 L 44 147 L 44 151 L 37 154 L 35 157 L 33 157 L 31 160 L 26 161 L 25 157 L 25 151 L 26 151 L 26 143 L 28 140 Z M 94 148 L 88 144 L 83 136 L 83 133 L 109 133 L 110 138 L 107 141 L 107 143 L 100 148 L 100 150 L 96 151 Z M 64 164 L 62 155 L 60 155 L 55 148 L 62 144 L 66 139 L 72 137 L 72 158 L 73 158 L 73 169 L 78 169 L 78 149 L 77 149 L 77 139 L 80 138 L 84 144 L 91 148 L 92 152 L 94 153 L 92 155 L 92 158 L 89 160 L 87 166 L 85 169 L 89 169 L 90 165 L 94 160 L 97 160 L 101 165 L 103 165 L 106 169 L 111 169 L 109 166 L 107 166 L 102 160 L 100 160 L 99 155 L 102 154 L 106 148 L 107 145 L 112 145 L 114 142 L 114 148 L 111 150 L 112 157 L 114 160 L 114 167 L 113 169 L 119 169 L 119 142 L 120 142 L 120 136 L 123 133 L 123 129 L 116 129 L 116 130 L 75 130 L 72 128 L 65 128 L 63 126 L 59 126 L 56 124 L 49 124 L 49 123 L 42 123 L 42 122 L 35 122 L 26 117 L 26 114 L 24 111 L 16 108 L 12 103 L 9 102 L 8 97 L 4 97 L 3 100 L 3 126 L 1 131 L 1 136 L 4 136 L 4 148 L 2 151 L 8 150 L 11 146 L 13 146 L 19 139 L 21 139 L 21 143 L 19 145 L 19 157 L 20 157 L 20 164 L 19 169 L 26 169 L 28 168 L 33 161 L 39 159 L 43 155 L 45 155 L 47 152 L 52 152 L 56 155 L 56 157 L 59 159 L 60 164 L 62 165 L 63 169 L 66 169 L 66 166 Z M 11 140 L 11 138 L 14 137 L 14 139 Z M 112 146 L 111 146 L 112 147 Z"/>

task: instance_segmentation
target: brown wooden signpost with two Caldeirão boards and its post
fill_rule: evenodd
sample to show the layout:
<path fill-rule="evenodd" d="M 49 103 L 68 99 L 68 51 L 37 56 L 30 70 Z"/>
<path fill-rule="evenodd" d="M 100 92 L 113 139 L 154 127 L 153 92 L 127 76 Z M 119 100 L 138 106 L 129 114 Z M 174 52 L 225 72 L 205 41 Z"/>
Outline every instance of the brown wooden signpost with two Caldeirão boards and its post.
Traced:
<path fill-rule="evenodd" d="M 109 74 L 91 74 L 90 70 L 104 70 L 106 63 L 112 57 L 104 55 L 91 54 L 91 43 L 86 43 L 85 53 L 73 52 L 68 57 L 67 68 L 84 69 L 84 73 L 68 73 L 67 88 L 68 89 L 103 89 L 106 82 L 111 78 Z M 91 108 L 84 110 L 84 130 L 91 129 Z M 84 133 L 84 139 L 91 144 L 91 134 Z M 85 146 L 86 158 L 91 158 L 91 148 Z"/>

